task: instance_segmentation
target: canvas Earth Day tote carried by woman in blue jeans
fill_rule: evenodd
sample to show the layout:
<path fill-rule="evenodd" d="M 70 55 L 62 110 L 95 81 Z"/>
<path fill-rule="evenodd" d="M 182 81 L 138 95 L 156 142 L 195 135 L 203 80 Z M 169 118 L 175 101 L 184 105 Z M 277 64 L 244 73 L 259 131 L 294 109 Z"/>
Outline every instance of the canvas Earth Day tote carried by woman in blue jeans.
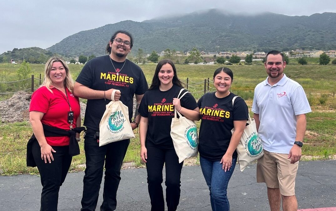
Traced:
<path fill-rule="evenodd" d="M 237 97 L 238 96 L 235 96 L 232 99 L 232 106 Z M 244 171 L 246 166 L 264 155 L 261 138 L 257 132 L 255 121 L 254 119 L 251 119 L 250 114 L 247 123 L 248 125 L 244 129 L 243 135 L 236 149 L 241 171 Z M 235 128 L 231 130 L 231 133 L 234 131 Z"/>

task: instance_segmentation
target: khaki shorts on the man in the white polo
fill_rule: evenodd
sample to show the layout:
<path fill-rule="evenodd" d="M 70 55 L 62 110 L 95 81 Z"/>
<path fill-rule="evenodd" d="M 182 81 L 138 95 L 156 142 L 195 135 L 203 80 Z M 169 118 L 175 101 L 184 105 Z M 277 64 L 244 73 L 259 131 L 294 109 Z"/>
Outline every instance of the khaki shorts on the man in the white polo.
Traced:
<path fill-rule="evenodd" d="M 295 177 L 299 162 L 291 164 L 288 154 L 264 150 L 257 163 L 257 182 L 265 182 L 269 188 L 280 188 L 283 196 L 295 195 Z"/>

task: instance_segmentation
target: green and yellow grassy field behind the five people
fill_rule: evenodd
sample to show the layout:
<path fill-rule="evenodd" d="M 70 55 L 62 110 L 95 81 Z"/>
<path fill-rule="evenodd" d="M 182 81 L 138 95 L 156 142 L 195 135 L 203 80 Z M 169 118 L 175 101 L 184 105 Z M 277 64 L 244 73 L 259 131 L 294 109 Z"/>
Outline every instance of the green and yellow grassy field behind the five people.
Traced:
<path fill-rule="evenodd" d="M 294 63 L 294 62 L 293 62 Z M 31 64 L 33 74 L 38 78 L 44 65 Z M 77 78 L 83 65 L 70 65 L 71 73 Z M 140 65 L 148 83 L 151 83 L 156 65 Z M 188 89 L 194 93 L 196 99 L 204 93 L 204 79 L 210 78 L 209 90 L 212 91 L 212 77 L 215 69 L 220 65 L 190 66 L 177 65 L 178 77 L 186 82 L 188 77 L 190 85 Z M 266 73 L 262 65 L 226 66 L 234 72 L 234 82 L 231 91 L 242 96 L 249 109 L 252 105 L 253 92 L 256 84 L 265 80 Z M 0 81 L 15 81 L 19 65 L 0 64 Z M 288 65 L 284 71 L 286 75 L 299 82 L 308 97 L 312 113 L 307 114 L 307 132 L 305 144 L 302 147 L 304 160 L 335 159 L 336 155 L 336 66 L 320 65 Z M 35 82 L 36 87 L 38 81 Z M 207 84 L 206 84 L 207 85 Z M 30 86 L 30 83 L 28 84 Z M 17 84 L 0 84 L 0 92 L 15 91 Z M 10 96 L 2 96 L 8 98 Z M 197 123 L 199 125 L 199 122 Z M 37 168 L 26 167 L 26 144 L 32 134 L 29 122 L 0 124 L 0 174 L 12 175 L 20 173 L 38 173 Z M 135 132 L 136 133 L 136 132 Z M 80 142 L 81 155 L 75 156 L 70 167 L 71 171 L 83 170 L 79 164 L 85 163 L 83 141 Z M 124 162 L 134 162 L 135 166 L 141 166 L 139 158 L 139 137 L 131 140 Z M 188 162 L 186 162 L 188 163 Z M 198 164 L 198 159 L 192 163 Z"/>

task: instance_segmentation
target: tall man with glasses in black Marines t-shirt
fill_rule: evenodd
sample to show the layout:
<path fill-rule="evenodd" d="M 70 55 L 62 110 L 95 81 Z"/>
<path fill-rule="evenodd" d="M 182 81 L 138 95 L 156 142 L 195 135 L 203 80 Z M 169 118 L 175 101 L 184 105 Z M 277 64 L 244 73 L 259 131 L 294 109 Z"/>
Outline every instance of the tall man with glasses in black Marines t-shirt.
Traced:
<path fill-rule="evenodd" d="M 110 39 L 106 50 L 109 55 L 89 60 L 76 79 L 74 95 L 88 99 L 85 111 L 84 136 L 86 158 L 83 179 L 83 198 L 81 210 L 95 210 L 105 163 L 103 202 L 100 210 L 115 210 L 117 190 L 120 182 L 120 168 L 126 154 L 129 139 L 109 143 L 99 147 L 99 123 L 111 94 L 118 89 L 114 100 L 121 100 L 128 107 L 130 122 L 133 116 L 133 97 L 137 108 L 148 84 L 140 67 L 126 59 L 133 46 L 133 38 L 126 31 L 117 31 Z M 140 115 L 135 112 L 131 123 L 135 129 Z"/>

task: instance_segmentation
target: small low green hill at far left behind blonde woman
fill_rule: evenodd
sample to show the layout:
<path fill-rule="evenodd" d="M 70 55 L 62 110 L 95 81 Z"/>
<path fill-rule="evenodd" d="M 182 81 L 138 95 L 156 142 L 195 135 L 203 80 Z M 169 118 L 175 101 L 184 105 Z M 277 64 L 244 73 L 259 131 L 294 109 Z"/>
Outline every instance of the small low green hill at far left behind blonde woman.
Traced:
<path fill-rule="evenodd" d="M 25 58 L 25 60 L 30 63 L 44 63 L 54 54 L 60 56 L 57 53 L 52 53 L 42 48 L 30 47 L 20 49 L 14 48 L 11 51 L 4 52 L 0 57 L 5 58 L 8 62 L 10 59 L 14 59 L 14 61 L 22 61 Z"/>

